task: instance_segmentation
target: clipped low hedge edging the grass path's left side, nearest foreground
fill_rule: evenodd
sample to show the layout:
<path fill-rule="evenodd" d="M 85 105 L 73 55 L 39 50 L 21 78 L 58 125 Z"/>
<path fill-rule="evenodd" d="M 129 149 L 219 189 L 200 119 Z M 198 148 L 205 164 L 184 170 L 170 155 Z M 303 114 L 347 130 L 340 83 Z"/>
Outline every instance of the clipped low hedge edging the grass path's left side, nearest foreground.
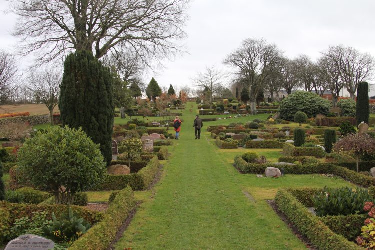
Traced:
<path fill-rule="evenodd" d="M 103 220 L 89 229 L 68 249 L 108 249 L 116 238 L 117 231 L 135 207 L 136 201 L 131 188 L 127 187 L 121 190 L 111 202 Z"/>

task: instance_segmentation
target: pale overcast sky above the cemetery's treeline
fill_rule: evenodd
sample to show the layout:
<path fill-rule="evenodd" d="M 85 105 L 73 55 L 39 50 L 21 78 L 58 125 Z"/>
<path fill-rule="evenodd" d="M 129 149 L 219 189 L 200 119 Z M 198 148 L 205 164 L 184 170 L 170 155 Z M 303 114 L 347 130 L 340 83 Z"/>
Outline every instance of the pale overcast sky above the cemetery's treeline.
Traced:
<path fill-rule="evenodd" d="M 7 7 L 0 0 L 0 10 Z M 293 58 L 312 59 L 329 45 L 343 44 L 375 56 L 374 0 L 194 0 L 184 41 L 189 54 L 164 63 L 149 73 L 162 86 L 193 86 L 191 77 L 222 60 L 246 38 L 265 38 Z M 10 49 L 16 16 L 0 13 L 0 47 Z"/>

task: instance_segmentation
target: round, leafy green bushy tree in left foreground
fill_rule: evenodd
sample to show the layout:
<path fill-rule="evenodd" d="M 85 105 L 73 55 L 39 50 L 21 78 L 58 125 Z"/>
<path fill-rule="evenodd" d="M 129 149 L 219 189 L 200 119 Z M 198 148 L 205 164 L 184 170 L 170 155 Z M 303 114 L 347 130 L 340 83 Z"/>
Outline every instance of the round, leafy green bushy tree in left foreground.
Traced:
<path fill-rule="evenodd" d="M 23 182 L 54 195 L 56 204 L 71 204 L 75 193 L 94 187 L 105 172 L 98 144 L 81 128 L 48 127 L 27 139 L 18 152 Z"/>

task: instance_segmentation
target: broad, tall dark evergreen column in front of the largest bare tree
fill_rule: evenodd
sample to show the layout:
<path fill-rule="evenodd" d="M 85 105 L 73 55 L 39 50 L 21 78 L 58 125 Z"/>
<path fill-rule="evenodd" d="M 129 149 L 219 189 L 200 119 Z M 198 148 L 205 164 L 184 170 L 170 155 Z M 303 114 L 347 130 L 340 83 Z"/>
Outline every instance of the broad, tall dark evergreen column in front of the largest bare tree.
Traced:
<path fill-rule="evenodd" d="M 93 142 L 100 144 L 101 153 L 109 165 L 114 122 L 109 69 L 92 52 L 78 50 L 66 57 L 60 90 L 62 124 L 82 127 Z"/>

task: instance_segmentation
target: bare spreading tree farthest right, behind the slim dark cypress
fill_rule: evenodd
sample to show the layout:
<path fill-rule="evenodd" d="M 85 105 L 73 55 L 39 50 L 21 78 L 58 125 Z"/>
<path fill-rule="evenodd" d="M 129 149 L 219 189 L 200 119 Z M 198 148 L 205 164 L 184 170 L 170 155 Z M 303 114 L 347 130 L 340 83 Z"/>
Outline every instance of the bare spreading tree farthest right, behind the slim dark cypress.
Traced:
<path fill-rule="evenodd" d="M 350 98 L 354 99 L 359 82 L 371 79 L 375 68 L 374 57 L 342 45 L 329 46 L 322 54 L 337 67 Z"/>

